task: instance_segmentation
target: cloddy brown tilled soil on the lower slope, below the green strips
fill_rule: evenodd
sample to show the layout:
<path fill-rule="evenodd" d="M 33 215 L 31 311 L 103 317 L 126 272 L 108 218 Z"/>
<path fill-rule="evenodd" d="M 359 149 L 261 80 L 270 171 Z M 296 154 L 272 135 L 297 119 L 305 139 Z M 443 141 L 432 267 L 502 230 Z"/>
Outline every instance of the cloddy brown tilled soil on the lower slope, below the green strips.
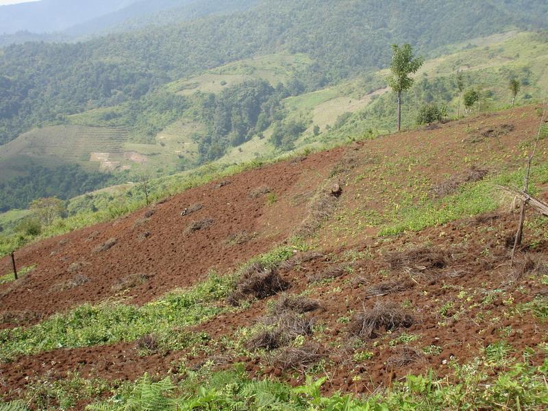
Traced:
<path fill-rule="evenodd" d="M 328 392 L 335 390 L 356 393 L 371 393 L 378 386 L 388 386 L 395 379 L 408 373 L 426 372 L 433 369 L 438 376 L 451 373 L 453 362 L 463 364 L 479 356 L 488 345 L 504 339 L 513 347 L 512 356 L 520 356 L 525 347 L 536 347 L 543 342 L 547 327 L 535 319 L 532 314 L 506 316 L 512 299 L 512 306 L 532 301 L 543 290 L 538 278 L 523 275 L 515 278 L 519 272 L 523 256 L 532 253 L 535 258 L 548 261 L 548 243 L 540 245 L 536 251 L 524 250 L 520 254 L 516 268 L 509 262 L 509 249 L 501 241 L 513 232 L 514 216 L 496 214 L 478 223 L 476 219 L 457 221 L 444 227 L 427 229 L 421 234 L 402 236 L 389 245 L 364 245 L 364 249 L 373 254 L 373 258 L 354 262 L 338 262 L 344 249 L 333 249 L 324 256 L 299 264 L 292 269 L 281 269 L 280 273 L 290 283 L 290 293 L 299 293 L 312 287 L 310 297 L 319 301 L 321 308 L 310 314 L 316 323 L 324 326 L 323 332 L 315 332 L 311 340 L 317 340 L 325 353 L 325 371 L 331 375 L 329 384 L 324 388 Z M 490 234 L 493 232 L 496 235 Z M 442 234 L 445 233 L 445 234 Z M 442 235 L 440 235 L 442 234 Z M 473 238 L 468 245 L 461 244 L 464 238 Z M 448 262 L 442 268 L 427 271 L 422 267 L 406 266 L 390 269 L 387 262 L 390 253 L 428 243 L 432 252 L 449 250 Z M 410 246 L 413 245 L 413 246 Z M 485 247 L 490 254 L 482 255 Z M 353 250 L 353 251 L 360 251 Z M 363 251 L 363 250 L 362 250 Z M 351 267 L 331 282 L 312 284 L 309 280 L 314 274 L 332 269 L 334 264 Z M 517 270 L 517 271 L 516 271 Z M 384 275 L 379 275 L 384 272 Z M 390 279 L 395 282 L 411 284 L 406 290 L 389 293 L 380 297 L 368 297 L 368 287 Z M 493 301 L 484 303 L 489 290 L 503 290 Z M 466 292 L 466 298 L 458 297 Z M 278 296 L 257 301 L 250 308 L 237 313 L 221 314 L 192 330 L 207 332 L 212 341 L 221 337 L 234 336 L 240 327 L 251 327 L 268 313 L 268 301 Z M 407 329 L 395 329 L 391 333 L 381 331 L 377 338 L 365 339 L 360 350 L 370 351 L 371 360 L 356 363 L 352 348 L 355 337 L 349 332 L 350 326 L 340 319 L 351 317 L 352 312 L 371 309 L 379 302 L 392 302 L 409 306 L 416 323 Z M 448 302 L 451 308 L 444 314 L 440 310 Z M 458 316 L 457 314 L 460 312 Z M 502 336 L 503 329 L 509 334 Z M 406 364 L 393 365 L 398 359 L 399 347 L 405 344 L 390 345 L 403 333 L 418 335 L 419 339 L 410 347 L 439 347 L 438 353 L 423 354 Z M 220 368 L 229 367 L 236 362 L 244 362 L 246 369 L 255 377 L 286 379 L 292 384 L 302 382 L 303 374 L 277 368 L 269 360 L 269 355 L 240 357 L 223 345 L 217 345 L 215 352 L 205 356 L 190 357 L 184 352 L 171 352 L 162 356 L 153 354 L 141 356 L 135 343 L 121 343 L 81 349 L 62 349 L 34 356 L 19 358 L 11 364 L 3 364 L 3 393 L 11 390 L 15 395 L 17 388 L 40 377 L 64 377 L 77 371 L 82 377 L 102 377 L 104 379 L 132 380 L 143 373 L 166 375 L 170 369 L 177 369 L 182 360 L 188 360 L 189 366 L 203 364 L 206 360 L 216 360 Z M 273 351 L 275 354 L 276 351 Z M 543 354 L 538 353 L 539 364 Z M 398 364 L 396 362 L 396 364 Z M 356 378 L 358 376 L 359 378 Z"/>

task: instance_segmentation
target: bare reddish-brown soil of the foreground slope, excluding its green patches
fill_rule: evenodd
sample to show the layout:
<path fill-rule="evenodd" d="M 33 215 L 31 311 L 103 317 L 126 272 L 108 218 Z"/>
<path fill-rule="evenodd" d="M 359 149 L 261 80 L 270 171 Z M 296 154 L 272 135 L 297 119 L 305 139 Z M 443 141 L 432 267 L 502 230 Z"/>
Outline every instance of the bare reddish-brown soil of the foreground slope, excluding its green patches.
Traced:
<path fill-rule="evenodd" d="M 497 129 L 508 123 L 513 128 L 506 127 L 508 132 L 496 138 L 464 141 L 470 127 Z M 498 340 L 508 341 L 514 350 L 511 355 L 516 357 L 521 356 L 525 347 L 536 349 L 546 340 L 547 324 L 530 312 L 506 314 L 546 292 L 540 277 L 545 273 L 544 264 L 548 263 L 548 242 L 543 233 L 527 231 L 527 241 L 536 240 L 536 247 L 523 247 L 517 269 L 512 267 L 508 238 L 512 238 L 516 228 L 513 211 L 499 210 L 395 238 L 377 238 L 375 227 L 364 228 L 356 236 L 341 235 L 335 229 L 342 224 L 340 216 L 344 210 L 358 206 L 384 210 L 389 206 L 388 197 L 372 195 L 379 193 L 382 175 L 369 174 L 363 181 L 356 179 L 370 172 L 370 166 L 406 153 L 427 151 L 428 161 L 416 165 L 412 171 L 425 176 L 423 185 L 427 192 L 449 176 L 469 169 L 469 164 L 462 164 L 466 155 L 471 155 L 478 166 L 488 166 L 493 173 L 515 166 L 514 153 L 521 152 L 519 143 L 524 135 L 532 136 L 537 126 L 537 116 L 530 107 L 453 122 L 429 132 L 379 138 L 309 155 L 299 162 L 282 162 L 242 173 L 231 177 L 231 184 L 221 188 L 219 182 L 213 182 L 188 190 L 156 206 L 155 213 L 138 229 L 132 227 L 136 220 L 142 219 L 142 211 L 112 224 L 89 227 L 26 247 L 17 254 L 20 265 L 38 266 L 20 282 L 0 286 L 3 292 L 0 314 L 6 319 L 10 315 L 20 316 L 20 323 L 30 324 L 38 321 L 39 316 L 84 301 L 119 296 L 131 303 L 144 303 L 173 288 L 195 284 L 210 269 L 225 273 L 295 232 L 310 216 L 307 205 L 310 206 L 310 200 L 323 187 L 334 166 L 343 187 L 338 212 L 322 226 L 319 238 L 312 240 L 321 253 L 295 256 L 277 269 L 277 274 L 288 284 L 286 294 L 266 297 L 251 303 L 249 308 L 220 314 L 192 327 L 208 333 L 215 342 L 211 343 L 214 352 L 209 356 L 201 353 L 188 357 L 184 352 L 139 356 L 135 343 L 39 353 L 1 364 L 4 384 L 0 393 L 11 392 L 10 395 L 16 396 L 16 390 L 33 379 L 45 375 L 63 377 L 71 371 L 79 371 L 83 377 L 121 380 L 136 379 L 145 372 L 166 375 L 183 359 L 196 368 L 208 359 L 220 369 L 244 362 L 252 377 L 280 378 L 299 384 L 303 382 L 304 369 L 310 365 L 307 361 L 323 358 L 330 376 L 325 390 L 359 394 L 389 386 L 408 373 L 433 369 L 439 376 L 449 375 L 453 361 L 469 362 Z M 489 164 L 484 164 L 486 153 L 490 154 Z M 480 158 L 486 160 L 479 161 Z M 408 165 L 405 167 L 408 170 Z M 399 177 L 392 177 L 390 184 Z M 251 190 L 261 186 L 268 186 L 276 193 L 275 205 L 266 206 L 264 197 L 249 196 Z M 192 216 L 181 216 L 184 208 L 195 203 L 203 204 L 203 208 Z M 185 232 L 193 221 L 206 219 L 214 222 L 191 234 Z M 150 236 L 139 240 L 145 231 Z M 238 232 L 256 236 L 241 244 L 227 241 Z M 88 238 L 92 240 L 86 241 Z M 92 252 L 110 238 L 117 239 L 114 246 L 101 253 Z M 10 270 L 8 263 L 0 261 L 0 273 Z M 71 266 L 73 269 L 69 270 Z M 54 284 L 70 281 L 76 272 L 89 281 L 67 290 L 52 288 Z M 119 284 L 136 273 L 144 275 L 146 280 L 136 281 L 123 294 L 116 294 Z M 316 282 L 309 283 L 310 279 Z M 311 336 L 304 337 L 306 343 L 301 350 L 304 352 L 281 351 L 287 349 L 282 347 L 266 356 L 253 353 L 241 357 L 220 342 L 223 336 L 234 337 L 240 327 L 251 327 L 264 319 L 269 314 L 267 306 L 277 309 L 276 301 L 280 303 L 278 308 L 290 307 L 287 301 L 284 303 L 287 295 L 305 290 L 310 291 L 308 297 L 317 301 L 320 308 L 303 315 L 321 325 L 321 331 L 316 328 Z M 229 305 L 226 301 L 221 303 Z M 356 313 L 369 312 L 379 304 L 404 307 L 412 313 L 413 321 L 390 325 L 390 330 L 380 324 L 369 335 L 371 338 L 360 333 L 356 336 L 351 321 L 356 319 Z M 290 308 L 283 312 L 286 310 Z M 7 320 L 3 324 L 12 326 Z M 397 338 L 403 333 L 417 339 L 398 343 Z M 357 350 L 356 338 L 362 341 Z M 439 352 L 424 353 L 423 349 L 429 346 L 435 346 Z M 370 351 L 373 358 L 357 363 L 353 353 L 360 351 Z M 282 358 L 290 356 L 292 364 L 298 365 L 297 373 L 288 369 L 291 364 L 288 365 L 287 358 L 280 360 L 280 353 Z M 544 360 L 541 353 L 534 353 L 533 358 L 539 364 Z"/>

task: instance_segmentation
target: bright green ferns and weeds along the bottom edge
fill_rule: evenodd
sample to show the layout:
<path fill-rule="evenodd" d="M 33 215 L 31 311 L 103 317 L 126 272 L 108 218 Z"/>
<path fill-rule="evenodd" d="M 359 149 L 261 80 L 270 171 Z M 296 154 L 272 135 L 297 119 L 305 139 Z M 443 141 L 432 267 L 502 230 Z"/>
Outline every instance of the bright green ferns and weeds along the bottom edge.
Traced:
<path fill-rule="evenodd" d="M 489 366 L 478 359 L 472 364 L 455 366 L 460 384 L 438 379 L 432 373 L 408 375 L 388 390 L 357 398 L 336 393 L 321 395 L 326 377 L 308 377 L 306 385 L 290 388 L 270 380 L 249 381 L 242 369 L 204 376 L 189 371 L 189 376 L 175 384 L 170 377 L 154 382 L 148 375 L 134 386 L 123 387 L 116 397 L 88 410 L 448 410 L 468 408 L 510 409 L 542 408 L 548 403 L 543 375 L 548 363 L 534 366 L 528 362 L 514 364 L 488 379 Z M 486 384 L 486 382 L 489 382 Z"/>

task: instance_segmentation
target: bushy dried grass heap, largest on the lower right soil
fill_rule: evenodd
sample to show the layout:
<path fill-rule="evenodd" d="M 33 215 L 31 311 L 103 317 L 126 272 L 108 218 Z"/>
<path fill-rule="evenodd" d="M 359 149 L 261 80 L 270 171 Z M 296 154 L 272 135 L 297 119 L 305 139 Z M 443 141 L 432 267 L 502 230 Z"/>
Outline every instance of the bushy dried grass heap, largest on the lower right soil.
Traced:
<path fill-rule="evenodd" d="M 414 322 L 413 317 L 397 304 L 377 303 L 373 310 L 358 312 L 349 324 L 349 331 L 360 338 L 375 338 L 382 329 L 391 331 L 401 327 L 408 328 Z"/>

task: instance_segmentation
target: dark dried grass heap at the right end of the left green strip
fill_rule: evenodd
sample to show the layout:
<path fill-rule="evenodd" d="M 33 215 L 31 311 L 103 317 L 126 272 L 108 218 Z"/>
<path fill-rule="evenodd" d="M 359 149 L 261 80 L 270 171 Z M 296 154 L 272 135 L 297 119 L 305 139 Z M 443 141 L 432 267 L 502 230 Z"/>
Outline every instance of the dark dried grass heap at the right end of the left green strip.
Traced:
<path fill-rule="evenodd" d="M 289 283 L 274 269 L 265 269 L 262 264 L 251 264 L 240 275 L 236 290 L 228 297 L 228 302 L 237 306 L 249 298 L 264 299 L 289 288 Z"/>

